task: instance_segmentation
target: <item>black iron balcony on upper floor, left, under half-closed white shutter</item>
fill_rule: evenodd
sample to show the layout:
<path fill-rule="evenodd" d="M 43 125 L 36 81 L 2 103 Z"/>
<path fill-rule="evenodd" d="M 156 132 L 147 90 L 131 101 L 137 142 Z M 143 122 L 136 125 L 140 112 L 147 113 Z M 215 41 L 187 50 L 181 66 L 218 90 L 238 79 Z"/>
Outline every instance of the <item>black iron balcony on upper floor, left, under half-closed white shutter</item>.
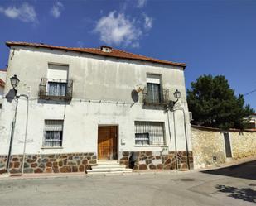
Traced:
<path fill-rule="evenodd" d="M 41 78 L 39 85 L 40 99 L 70 101 L 72 99 L 72 92 L 72 80 Z"/>

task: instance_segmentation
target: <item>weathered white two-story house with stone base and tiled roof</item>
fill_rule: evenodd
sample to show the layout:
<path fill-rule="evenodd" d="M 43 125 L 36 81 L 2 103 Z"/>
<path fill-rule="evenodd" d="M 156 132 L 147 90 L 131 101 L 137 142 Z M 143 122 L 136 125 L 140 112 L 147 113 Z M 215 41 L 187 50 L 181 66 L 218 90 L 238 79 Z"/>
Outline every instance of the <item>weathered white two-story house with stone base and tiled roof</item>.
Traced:
<path fill-rule="evenodd" d="M 99 160 L 133 170 L 193 167 L 185 64 L 109 46 L 7 46 L 19 98 L 3 99 L 0 172 L 85 171 Z M 7 80 L 4 94 L 12 90 Z"/>

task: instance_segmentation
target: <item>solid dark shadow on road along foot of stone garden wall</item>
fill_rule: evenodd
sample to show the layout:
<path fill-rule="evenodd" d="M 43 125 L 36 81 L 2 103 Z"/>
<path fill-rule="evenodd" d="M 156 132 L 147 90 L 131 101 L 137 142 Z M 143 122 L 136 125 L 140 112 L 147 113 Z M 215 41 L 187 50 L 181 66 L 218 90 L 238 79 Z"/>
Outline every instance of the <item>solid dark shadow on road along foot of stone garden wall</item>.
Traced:
<path fill-rule="evenodd" d="M 233 165 L 217 170 L 205 170 L 201 172 L 210 175 L 225 175 L 235 178 L 256 180 L 256 161 L 254 160 L 240 165 Z"/>

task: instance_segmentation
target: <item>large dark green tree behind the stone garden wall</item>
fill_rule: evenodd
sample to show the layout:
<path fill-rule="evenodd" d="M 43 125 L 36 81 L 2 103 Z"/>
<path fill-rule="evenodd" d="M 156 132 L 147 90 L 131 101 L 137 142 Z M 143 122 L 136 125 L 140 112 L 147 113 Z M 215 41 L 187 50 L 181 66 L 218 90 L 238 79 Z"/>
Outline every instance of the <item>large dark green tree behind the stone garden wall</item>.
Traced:
<path fill-rule="evenodd" d="M 243 118 L 254 113 L 244 97 L 234 95 L 225 76 L 203 75 L 187 89 L 187 102 L 194 124 L 221 129 L 243 128 Z"/>

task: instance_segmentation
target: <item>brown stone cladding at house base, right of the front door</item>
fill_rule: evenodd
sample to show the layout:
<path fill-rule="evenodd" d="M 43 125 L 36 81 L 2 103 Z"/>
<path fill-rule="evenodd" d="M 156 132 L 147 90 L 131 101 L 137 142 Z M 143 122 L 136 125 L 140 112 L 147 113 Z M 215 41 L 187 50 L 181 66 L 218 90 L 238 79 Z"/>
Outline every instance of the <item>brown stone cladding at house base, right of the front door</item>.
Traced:
<path fill-rule="evenodd" d="M 188 152 L 188 160 L 186 151 L 169 151 L 168 155 L 162 155 L 161 151 L 133 151 L 135 156 L 133 170 L 175 170 L 176 162 L 178 170 L 193 169 L 193 152 Z M 120 155 L 120 165 L 129 165 L 129 159 L 132 156 L 132 151 L 123 151 Z M 176 161 L 177 156 L 177 161 Z M 189 165 L 188 165 L 189 164 Z"/>

